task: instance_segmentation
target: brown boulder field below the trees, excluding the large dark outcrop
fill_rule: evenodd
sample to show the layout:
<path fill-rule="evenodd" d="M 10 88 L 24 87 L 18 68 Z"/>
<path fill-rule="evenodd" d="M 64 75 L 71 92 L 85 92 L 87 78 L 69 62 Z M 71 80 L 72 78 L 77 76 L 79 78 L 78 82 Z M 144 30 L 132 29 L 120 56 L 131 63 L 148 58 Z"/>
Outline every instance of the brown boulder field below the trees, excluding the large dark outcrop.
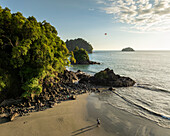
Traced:
<path fill-rule="evenodd" d="M 59 82 L 50 79 L 50 84 L 44 81 L 43 91 L 40 95 L 32 95 L 29 99 L 9 99 L 0 104 L 0 119 L 12 121 L 17 116 L 24 116 L 34 111 L 41 111 L 47 108 L 53 108 L 56 104 L 66 101 L 75 100 L 77 95 L 96 91 L 93 86 L 74 83 L 78 77 L 85 75 L 81 71 L 76 73 L 65 70 L 59 74 Z"/>

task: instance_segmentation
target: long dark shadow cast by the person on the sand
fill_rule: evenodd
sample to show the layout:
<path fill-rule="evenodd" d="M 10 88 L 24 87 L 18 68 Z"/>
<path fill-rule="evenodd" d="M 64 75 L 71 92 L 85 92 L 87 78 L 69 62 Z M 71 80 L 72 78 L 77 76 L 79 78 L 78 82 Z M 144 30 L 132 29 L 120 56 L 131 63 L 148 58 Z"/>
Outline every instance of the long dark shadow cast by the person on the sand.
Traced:
<path fill-rule="evenodd" d="M 87 131 L 90 131 L 90 130 L 96 128 L 96 127 L 97 127 L 97 125 L 94 124 L 94 125 L 91 125 L 91 126 L 87 126 L 87 127 L 78 129 L 78 130 L 72 132 L 72 136 L 77 136 L 79 134 L 82 134 L 82 133 L 85 133 Z"/>

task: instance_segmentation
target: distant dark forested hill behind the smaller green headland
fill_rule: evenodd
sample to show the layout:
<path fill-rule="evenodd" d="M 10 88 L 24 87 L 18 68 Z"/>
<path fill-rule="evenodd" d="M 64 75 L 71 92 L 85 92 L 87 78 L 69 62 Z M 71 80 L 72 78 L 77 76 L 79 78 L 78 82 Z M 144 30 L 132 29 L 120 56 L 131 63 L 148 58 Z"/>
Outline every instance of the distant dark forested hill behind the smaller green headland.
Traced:
<path fill-rule="evenodd" d="M 72 40 L 72 39 L 67 40 L 66 46 L 67 46 L 69 51 L 74 51 L 76 46 L 79 47 L 79 49 L 80 48 L 85 49 L 89 53 L 92 53 L 92 51 L 93 51 L 92 45 L 82 38 L 78 38 L 78 39 L 74 39 L 74 40 Z"/>

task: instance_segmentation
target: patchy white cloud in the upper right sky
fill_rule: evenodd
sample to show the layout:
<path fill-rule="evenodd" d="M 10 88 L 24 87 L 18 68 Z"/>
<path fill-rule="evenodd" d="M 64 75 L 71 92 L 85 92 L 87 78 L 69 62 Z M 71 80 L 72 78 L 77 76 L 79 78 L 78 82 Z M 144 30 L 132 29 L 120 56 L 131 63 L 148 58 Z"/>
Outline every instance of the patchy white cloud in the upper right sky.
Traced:
<path fill-rule="evenodd" d="M 129 24 L 133 30 L 170 31 L 170 0 L 97 0 L 97 3 L 116 22 Z"/>

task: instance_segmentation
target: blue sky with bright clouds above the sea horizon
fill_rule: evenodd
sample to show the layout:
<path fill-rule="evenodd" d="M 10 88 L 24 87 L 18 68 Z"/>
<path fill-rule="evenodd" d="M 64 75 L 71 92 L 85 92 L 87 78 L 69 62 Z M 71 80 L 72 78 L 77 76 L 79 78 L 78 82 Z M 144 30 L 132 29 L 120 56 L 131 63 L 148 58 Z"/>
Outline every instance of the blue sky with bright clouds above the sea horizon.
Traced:
<path fill-rule="evenodd" d="M 170 50 L 170 0 L 0 0 L 0 5 L 46 20 L 63 41 L 83 38 L 94 50 Z"/>

